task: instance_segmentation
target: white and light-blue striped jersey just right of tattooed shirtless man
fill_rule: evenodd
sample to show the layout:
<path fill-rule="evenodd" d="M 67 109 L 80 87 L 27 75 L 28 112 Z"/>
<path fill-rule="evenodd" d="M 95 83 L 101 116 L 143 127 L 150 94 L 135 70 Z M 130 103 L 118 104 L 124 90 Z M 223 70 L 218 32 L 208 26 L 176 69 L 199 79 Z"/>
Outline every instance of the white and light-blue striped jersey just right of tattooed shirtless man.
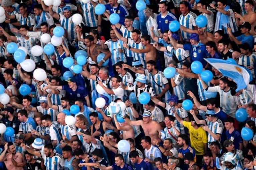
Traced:
<path fill-rule="evenodd" d="M 112 41 L 112 39 L 104 43 L 111 53 L 112 65 L 115 65 L 119 61 L 126 62 L 126 56 L 123 52 L 119 52 L 119 49 L 123 49 L 123 42 L 121 40 Z"/>

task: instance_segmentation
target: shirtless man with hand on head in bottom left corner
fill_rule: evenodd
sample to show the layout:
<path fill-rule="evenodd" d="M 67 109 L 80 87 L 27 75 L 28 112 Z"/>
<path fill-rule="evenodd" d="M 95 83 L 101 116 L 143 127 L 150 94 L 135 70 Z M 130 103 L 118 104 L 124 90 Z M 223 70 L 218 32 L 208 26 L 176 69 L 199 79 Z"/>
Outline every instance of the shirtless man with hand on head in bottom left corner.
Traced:
<path fill-rule="evenodd" d="M 8 153 L 6 154 L 6 151 Z M 0 162 L 3 162 L 8 170 L 23 170 L 26 165 L 25 158 L 21 153 L 17 153 L 12 142 L 5 143 L 4 151 L 0 155 Z"/>

